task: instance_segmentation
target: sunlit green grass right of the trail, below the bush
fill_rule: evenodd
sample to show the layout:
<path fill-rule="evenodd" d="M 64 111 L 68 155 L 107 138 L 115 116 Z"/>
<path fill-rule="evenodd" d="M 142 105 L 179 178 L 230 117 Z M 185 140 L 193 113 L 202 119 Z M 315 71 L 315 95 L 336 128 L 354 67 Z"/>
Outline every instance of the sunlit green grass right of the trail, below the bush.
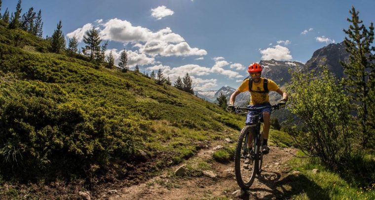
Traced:
<path fill-rule="evenodd" d="M 302 155 L 299 153 L 299 155 Z M 329 170 L 317 159 L 293 158 L 289 161 L 292 171 L 300 171 L 300 175 L 290 173 L 282 181 L 276 183 L 276 190 L 284 192 L 286 198 L 307 199 L 335 199 L 335 200 L 371 200 L 375 199 L 375 184 L 366 188 L 348 183 L 337 172 Z M 320 172 L 314 174 L 312 169 Z M 285 191 L 284 191 L 285 190 Z"/>

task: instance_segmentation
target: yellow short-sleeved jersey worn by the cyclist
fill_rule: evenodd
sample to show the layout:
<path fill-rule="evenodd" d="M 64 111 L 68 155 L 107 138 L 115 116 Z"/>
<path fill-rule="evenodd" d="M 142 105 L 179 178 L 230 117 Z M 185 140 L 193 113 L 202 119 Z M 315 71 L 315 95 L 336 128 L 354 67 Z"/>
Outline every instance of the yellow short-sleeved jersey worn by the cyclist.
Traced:
<path fill-rule="evenodd" d="M 268 93 L 255 92 L 255 91 L 264 91 L 263 81 L 264 81 L 263 77 L 261 77 L 261 81 L 259 81 L 258 83 L 253 81 L 253 88 L 252 88 L 253 91 L 250 92 L 250 104 L 254 105 L 254 104 L 263 104 L 263 103 L 269 102 Z M 268 87 L 268 91 L 276 91 L 279 89 L 279 86 L 277 86 L 277 84 L 274 81 L 269 80 L 269 79 L 267 82 L 267 87 Z M 244 80 L 237 89 L 240 92 L 249 91 L 249 79 Z"/>

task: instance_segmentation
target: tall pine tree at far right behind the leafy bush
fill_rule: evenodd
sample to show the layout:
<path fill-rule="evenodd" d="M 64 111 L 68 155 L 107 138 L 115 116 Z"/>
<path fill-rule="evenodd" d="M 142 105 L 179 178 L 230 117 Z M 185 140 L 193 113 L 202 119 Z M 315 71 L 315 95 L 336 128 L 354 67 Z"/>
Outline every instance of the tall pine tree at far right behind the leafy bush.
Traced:
<path fill-rule="evenodd" d="M 374 24 L 371 23 L 369 30 L 359 19 L 359 12 L 354 6 L 349 11 L 351 19 L 347 18 L 350 26 L 343 30 L 349 37 L 345 37 L 346 51 L 350 53 L 349 63 L 340 62 L 347 75 L 343 79 L 346 90 L 352 99 L 352 105 L 361 121 L 362 146 L 366 147 L 369 139 L 374 137 L 371 133 L 375 129 L 375 47 Z"/>

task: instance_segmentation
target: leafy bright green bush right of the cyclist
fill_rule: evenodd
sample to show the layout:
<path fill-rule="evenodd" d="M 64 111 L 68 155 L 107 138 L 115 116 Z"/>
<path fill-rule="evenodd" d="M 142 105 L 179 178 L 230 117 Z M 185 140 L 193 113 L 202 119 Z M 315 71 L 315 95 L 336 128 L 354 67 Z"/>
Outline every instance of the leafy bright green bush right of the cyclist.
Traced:
<path fill-rule="evenodd" d="M 338 167 L 358 144 L 349 100 L 340 82 L 323 67 L 323 72 L 315 76 L 293 72 L 286 90 L 289 110 L 303 122 L 288 129 L 298 147 L 308 155 L 319 156 L 328 166 Z"/>

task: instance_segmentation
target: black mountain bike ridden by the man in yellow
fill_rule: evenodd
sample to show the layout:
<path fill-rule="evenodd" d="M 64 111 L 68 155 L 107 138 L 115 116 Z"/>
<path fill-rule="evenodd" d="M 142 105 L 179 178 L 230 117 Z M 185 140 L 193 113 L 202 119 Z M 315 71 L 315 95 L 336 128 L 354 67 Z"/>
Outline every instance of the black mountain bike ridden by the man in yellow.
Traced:
<path fill-rule="evenodd" d="M 271 108 L 271 112 L 285 106 L 285 103 L 279 103 L 273 106 L 264 106 L 260 108 L 235 108 L 239 114 L 248 112 L 258 112 L 255 121 L 250 125 L 245 125 L 238 136 L 237 146 L 234 156 L 234 171 L 238 186 L 243 189 L 249 189 L 253 184 L 256 174 L 260 175 L 263 163 L 262 143 L 263 136 L 261 132 L 261 110 Z M 244 112 L 246 111 L 246 112 Z M 253 141 L 250 143 L 250 137 Z"/>

